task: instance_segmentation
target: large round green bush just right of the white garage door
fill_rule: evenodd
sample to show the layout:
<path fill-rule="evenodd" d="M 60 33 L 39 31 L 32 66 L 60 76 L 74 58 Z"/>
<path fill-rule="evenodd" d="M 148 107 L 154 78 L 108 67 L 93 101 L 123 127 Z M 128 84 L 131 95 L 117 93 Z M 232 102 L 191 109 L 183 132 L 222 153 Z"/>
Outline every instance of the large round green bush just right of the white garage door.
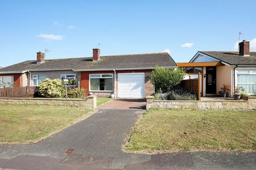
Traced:
<path fill-rule="evenodd" d="M 157 66 L 150 73 L 149 79 L 154 84 L 156 91 L 162 89 L 163 92 L 168 92 L 180 84 L 184 75 L 183 69 L 165 69 Z"/>

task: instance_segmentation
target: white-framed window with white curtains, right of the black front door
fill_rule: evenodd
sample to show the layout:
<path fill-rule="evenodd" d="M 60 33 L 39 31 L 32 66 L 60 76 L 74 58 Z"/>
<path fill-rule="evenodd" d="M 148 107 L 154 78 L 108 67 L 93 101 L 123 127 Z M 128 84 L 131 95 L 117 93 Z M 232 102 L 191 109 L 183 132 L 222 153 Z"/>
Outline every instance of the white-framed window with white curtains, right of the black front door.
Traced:
<path fill-rule="evenodd" d="M 248 94 L 256 92 L 256 70 L 238 70 L 237 86 L 244 87 Z"/>

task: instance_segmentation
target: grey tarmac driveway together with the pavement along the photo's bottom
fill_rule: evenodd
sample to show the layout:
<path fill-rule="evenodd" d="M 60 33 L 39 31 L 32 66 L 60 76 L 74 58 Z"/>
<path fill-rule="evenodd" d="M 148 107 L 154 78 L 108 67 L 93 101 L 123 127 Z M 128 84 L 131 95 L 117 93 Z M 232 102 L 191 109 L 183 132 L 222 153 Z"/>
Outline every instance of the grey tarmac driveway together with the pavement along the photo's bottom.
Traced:
<path fill-rule="evenodd" d="M 113 103 L 112 103 L 113 102 Z M 135 101 L 134 101 L 135 102 Z M 118 102 L 111 101 L 114 107 Z M 125 104 L 137 107 L 138 103 Z M 124 105 L 122 105 L 124 106 Z M 108 107 L 106 105 L 106 107 Z M 256 152 L 122 151 L 141 109 L 106 109 L 35 145 L 0 145 L 0 169 L 255 169 Z M 65 154 L 68 149 L 75 149 Z"/>

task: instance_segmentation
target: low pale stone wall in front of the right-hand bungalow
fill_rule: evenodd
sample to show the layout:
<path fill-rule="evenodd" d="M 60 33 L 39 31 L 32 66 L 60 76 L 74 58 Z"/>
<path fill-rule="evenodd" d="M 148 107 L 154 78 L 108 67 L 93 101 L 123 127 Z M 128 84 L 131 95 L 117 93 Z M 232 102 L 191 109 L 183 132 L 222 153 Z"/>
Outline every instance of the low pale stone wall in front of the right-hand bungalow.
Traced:
<path fill-rule="evenodd" d="M 147 109 L 150 108 L 191 108 L 213 110 L 252 110 L 256 109 L 256 98 L 248 97 L 247 100 L 154 100 L 153 96 L 147 96 Z"/>

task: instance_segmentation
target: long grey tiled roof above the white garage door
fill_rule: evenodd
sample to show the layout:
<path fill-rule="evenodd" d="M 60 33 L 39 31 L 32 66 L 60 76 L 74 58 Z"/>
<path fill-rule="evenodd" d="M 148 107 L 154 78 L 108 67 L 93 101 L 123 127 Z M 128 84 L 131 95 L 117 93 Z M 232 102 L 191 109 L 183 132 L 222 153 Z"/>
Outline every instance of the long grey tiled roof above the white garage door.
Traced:
<path fill-rule="evenodd" d="M 150 54 L 131 54 L 101 56 L 100 61 L 93 62 L 92 57 L 82 58 L 62 58 L 55 60 L 45 60 L 42 64 L 36 61 L 25 61 L 0 69 L 6 71 L 25 71 L 25 70 L 78 70 L 78 69 L 126 69 L 126 68 L 145 68 L 153 66 L 170 67 L 176 66 L 172 57 L 168 53 Z"/>

